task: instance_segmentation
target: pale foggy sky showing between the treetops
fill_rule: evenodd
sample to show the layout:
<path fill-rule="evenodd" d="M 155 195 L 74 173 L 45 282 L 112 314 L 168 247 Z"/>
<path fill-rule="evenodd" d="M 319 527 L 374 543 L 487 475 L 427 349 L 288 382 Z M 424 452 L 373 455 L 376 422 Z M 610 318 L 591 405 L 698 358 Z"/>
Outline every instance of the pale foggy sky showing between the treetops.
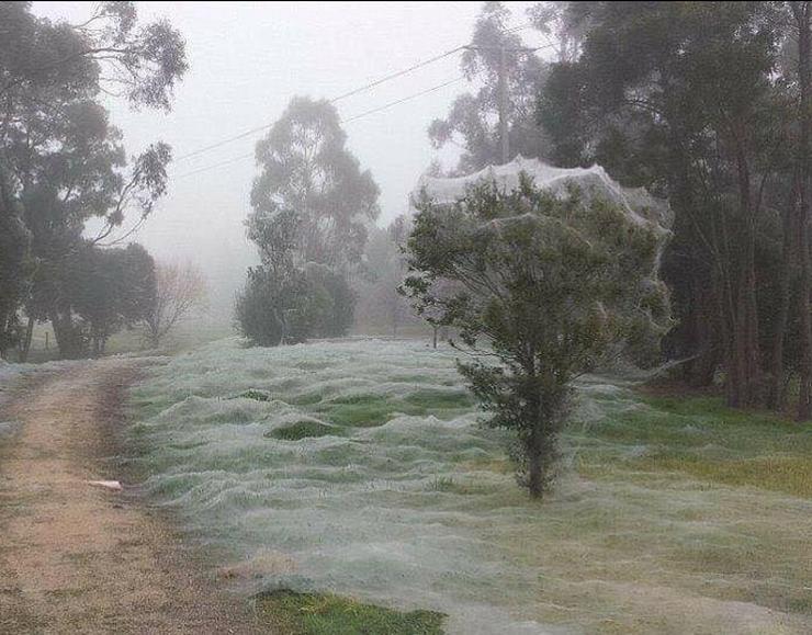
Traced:
<path fill-rule="evenodd" d="M 509 2 L 512 24 L 527 23 L 531 2 Z M 249 128 L 272 123 L 293 95 L 330 98 L 466 43 L 478 2 L 138 2 L 144 22 L 165 16 L 187 42 L 190 70 L 170 113 L 132 112 L 106 100 L 128 154 L 161 139 L 179 157 Z M 34 2 L 34 12 L 78 23 L 90 2 Z M 538 34 L 526 30 L 528 43 Z M 453 55 L 376 89 L 339 101 L 343 118 L 426 90 L 461 75 Z M 381 188 L 386 225 L 406 209 L 407 194 L 432 158 L 453 165 L 456 150 L 438 154 L 426 129 L 443 116 L 462 81 L 346 124 L 348 146 Z M 192 260 L 227 304 L 256 261 L 245 238 L 253 159 L 193 175 L 195 169 L 253 150 L 261 135 L 219 147 L 170 168 L 169 192 L 136 240 L 159 260 Z"/>

